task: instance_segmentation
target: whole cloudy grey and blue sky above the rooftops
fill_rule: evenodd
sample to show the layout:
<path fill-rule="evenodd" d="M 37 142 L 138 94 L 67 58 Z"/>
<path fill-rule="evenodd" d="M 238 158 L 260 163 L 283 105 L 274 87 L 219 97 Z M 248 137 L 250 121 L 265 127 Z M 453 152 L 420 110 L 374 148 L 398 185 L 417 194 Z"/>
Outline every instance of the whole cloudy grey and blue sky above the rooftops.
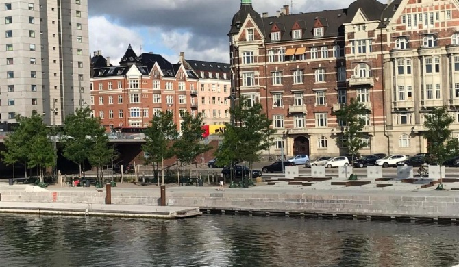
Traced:
<path fill-rule="evenodd" d="M 384 0 L 380 0 L 384 1 Z M 227 36 L 240 0 L 88 0 L 90 51 L 101 50 L 117 65 L 128 44 L 140 53 L 159 53 L 175 63 L 229 62 Z M 293 14 L 347 8 L 353 0 L 253 0 L 259 14 L 275 16 L 283 5 Z M 386 1 L 384 1 L 386 2 Z"/>

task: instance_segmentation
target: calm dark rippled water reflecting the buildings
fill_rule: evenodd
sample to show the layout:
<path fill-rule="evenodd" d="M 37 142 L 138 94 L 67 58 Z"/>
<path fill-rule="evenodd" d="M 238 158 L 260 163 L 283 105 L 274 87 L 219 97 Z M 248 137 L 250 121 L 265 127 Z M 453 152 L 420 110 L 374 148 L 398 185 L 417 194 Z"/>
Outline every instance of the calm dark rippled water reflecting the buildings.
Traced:
<path fill-rule="evenodd" d="M 447 266 L 459 225 L 0 214 L 0 266 Z"/>

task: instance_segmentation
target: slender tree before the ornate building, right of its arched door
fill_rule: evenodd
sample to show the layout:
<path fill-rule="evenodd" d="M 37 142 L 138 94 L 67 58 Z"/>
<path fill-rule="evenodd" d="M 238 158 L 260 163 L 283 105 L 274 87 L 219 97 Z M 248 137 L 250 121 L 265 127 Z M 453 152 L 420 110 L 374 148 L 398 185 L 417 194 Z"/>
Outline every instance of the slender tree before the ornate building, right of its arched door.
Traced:
<path fill-rule="evenodd" d="M 338 122 L 343 124 L 343 135 L 336 140 L 340 147 L 347 147 L 347 151 L 352 155 L 352 164 L 354 155 L 358 151 L 367 147 L 367 142 L 363 140 L 365 127 L 364 116 L 369 114 L 369 110 L 358 99 L 351 99 L 349 104 L 343 105 L 340 110 L 335 112 Z"/>

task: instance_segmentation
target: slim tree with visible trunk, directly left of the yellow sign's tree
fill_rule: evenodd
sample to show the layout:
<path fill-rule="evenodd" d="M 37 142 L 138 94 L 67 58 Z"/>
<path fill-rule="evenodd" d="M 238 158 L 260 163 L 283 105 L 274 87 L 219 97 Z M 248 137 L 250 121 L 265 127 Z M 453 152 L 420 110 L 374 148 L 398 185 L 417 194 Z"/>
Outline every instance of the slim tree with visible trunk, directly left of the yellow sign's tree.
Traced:
<path fill-rule="evenodd" d="M 144 131 L 145 144 L 142 150 L 147 153 L 147 162 L 162 164 L 162 185 L 164 186 L 164 160 L 173 157 L 174 149 L 171 142 L 178 137 L 177 125 L 173 123 L 172 112 L 158 112 Z"/>

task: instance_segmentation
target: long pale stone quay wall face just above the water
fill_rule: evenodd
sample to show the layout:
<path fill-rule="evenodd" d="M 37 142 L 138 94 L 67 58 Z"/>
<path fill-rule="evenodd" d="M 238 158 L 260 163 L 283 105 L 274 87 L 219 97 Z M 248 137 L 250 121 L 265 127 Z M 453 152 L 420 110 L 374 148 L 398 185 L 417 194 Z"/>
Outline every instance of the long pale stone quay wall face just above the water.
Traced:
<path fill-rule="evenodd" d="M 170 206 L 244 212 L 290 212 L 337 216 L 383 216 L 405 218 L 459 219 L 459 196 L 445 193 L 412 194 L 412 192 L 311 192 L 311 193 L 251 193 L 251 192 L 170 192 Z M 45 203 L 105 203 L 105 194 L 98 192 L 1 192 L 1 201 Z M 154 192 L 113 192 L 112 204 L 158 205 Z M 1 205 L 1 202 L 0 202 Z"/>

